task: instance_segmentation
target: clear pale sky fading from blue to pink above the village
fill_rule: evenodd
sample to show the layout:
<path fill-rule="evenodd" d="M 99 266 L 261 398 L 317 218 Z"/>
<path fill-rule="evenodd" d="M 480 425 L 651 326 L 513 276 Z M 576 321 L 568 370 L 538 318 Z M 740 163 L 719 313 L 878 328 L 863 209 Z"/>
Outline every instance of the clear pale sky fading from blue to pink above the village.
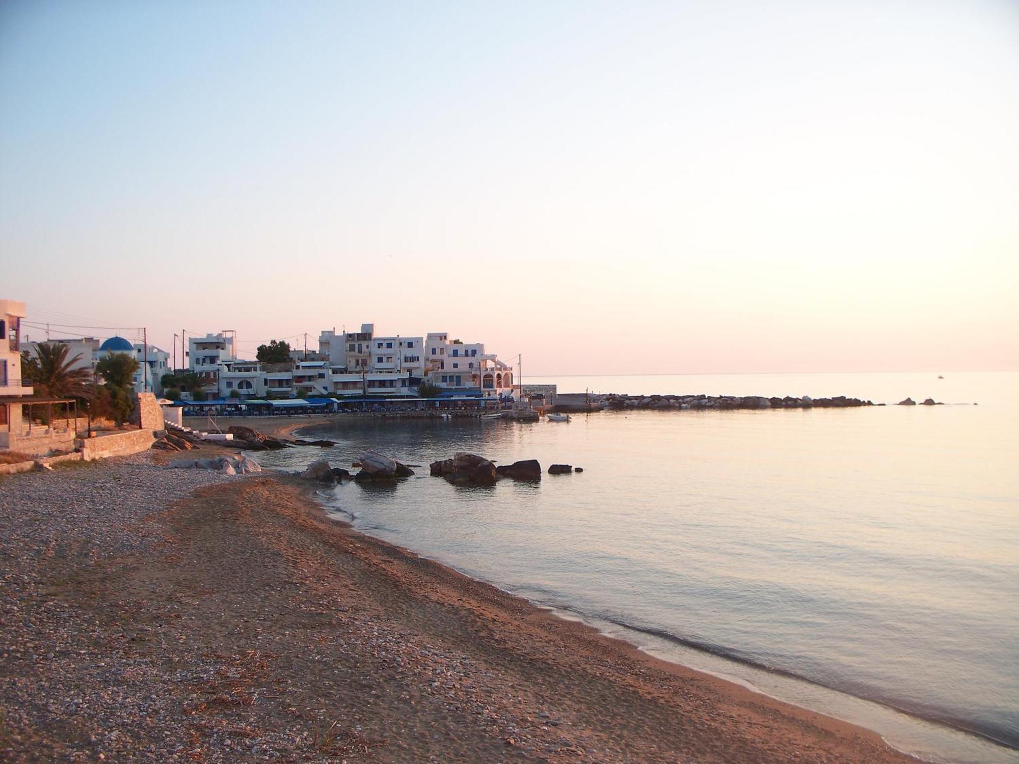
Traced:
<path fill-rule="evenodd" d="M 1019 370 L 1019 3 L 5 0 L 0 264 L 167 350 Z"/>

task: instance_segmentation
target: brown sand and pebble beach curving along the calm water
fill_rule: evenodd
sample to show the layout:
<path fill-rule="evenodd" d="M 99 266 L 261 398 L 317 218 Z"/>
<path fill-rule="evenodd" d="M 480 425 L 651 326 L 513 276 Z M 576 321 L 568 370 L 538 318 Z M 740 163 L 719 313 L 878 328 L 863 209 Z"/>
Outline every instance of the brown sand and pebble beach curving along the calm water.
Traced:
<path fill-rule="evenodd" d="M 0 485 L 7 760 L 914 761 L 153 455 Z"/>

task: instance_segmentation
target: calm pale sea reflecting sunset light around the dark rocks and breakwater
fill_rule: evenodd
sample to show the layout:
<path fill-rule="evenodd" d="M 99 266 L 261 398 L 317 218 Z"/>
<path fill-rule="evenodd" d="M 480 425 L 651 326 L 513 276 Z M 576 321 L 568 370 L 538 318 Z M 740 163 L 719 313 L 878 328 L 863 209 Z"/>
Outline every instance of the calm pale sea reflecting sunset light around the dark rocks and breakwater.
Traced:
<path fill-rule="evenodd" d="M 351 420 L 314 430 L 340 441 L 325 453 L 259 455 L 422 465 L 324 498 L 363 532 L 924 758 L 1019 762 L 1019 374 L 936 377 L 530 378 L 946 405 Z M 585 472 L 491 489 L 428 477 L 461 450 Z"/>

